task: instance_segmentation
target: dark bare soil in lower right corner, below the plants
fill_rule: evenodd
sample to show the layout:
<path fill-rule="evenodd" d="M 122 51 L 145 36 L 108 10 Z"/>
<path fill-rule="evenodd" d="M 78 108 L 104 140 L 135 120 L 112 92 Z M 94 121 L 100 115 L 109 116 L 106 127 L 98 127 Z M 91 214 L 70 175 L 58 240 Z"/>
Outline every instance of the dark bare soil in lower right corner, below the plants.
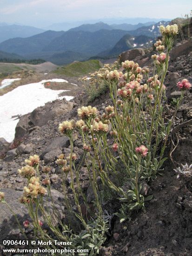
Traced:
<path fill-rule="evenodd" d="M 130 222 L 116 220 L 113 237 L 100 255 L 192 255 L 192 189 L 172 168 L 168 162 L 164 176 L 151 182 L 154 197 L 145 212 L 135 213 Z M 116 240 L 115 233 L 119 234 Z"/>

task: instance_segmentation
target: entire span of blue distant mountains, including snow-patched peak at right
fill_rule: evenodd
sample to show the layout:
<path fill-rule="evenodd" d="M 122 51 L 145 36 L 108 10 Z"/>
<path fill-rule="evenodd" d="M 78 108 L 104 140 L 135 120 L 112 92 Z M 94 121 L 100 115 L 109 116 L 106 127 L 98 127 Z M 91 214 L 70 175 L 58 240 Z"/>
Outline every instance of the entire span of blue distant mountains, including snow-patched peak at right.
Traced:
<path fill-rule="evenodd" d="M 49 30 L 26 38 L 5 40 L 0 43 L 0 50 L 19 54 L 22 58 L 40 58 L 60 65 L 92 56 L 115 56 L 134 47 L 147 47 L 159 35 L 162 24 L 168 22 L 150 22 L 149 26 L 142 24 L 142 27 L 141 24 L 108 25 L 103 22 L 84 24 L 66 32 Z M 116 29 L 118 27 L 132 27 L 132 30 Z"/>

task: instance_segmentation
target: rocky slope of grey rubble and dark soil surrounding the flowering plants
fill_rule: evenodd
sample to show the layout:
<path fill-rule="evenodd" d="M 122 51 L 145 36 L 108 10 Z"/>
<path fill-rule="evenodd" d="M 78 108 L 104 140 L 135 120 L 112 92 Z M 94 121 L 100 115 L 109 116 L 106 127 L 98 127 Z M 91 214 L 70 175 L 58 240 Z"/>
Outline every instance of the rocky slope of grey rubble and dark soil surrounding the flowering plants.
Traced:
<path fill-rule="evenodd" d="M 192 82 L 192 49 L 189 45 L 192 42 L 176 45 L 173 49 L 173 56 L 170 60 L 169 72 L 166 76 L 165 85 L 167 87 L 167 98 L 169 102 L 172 98 L 177 98 L 179 93 L 175 92 L 176 82 L 183 78 Z M 182 47 L 182 50 L 179 50 Z M 191 49 L 191 50 L 190 50 Z M 132 50 L 131 50 L 132 51 Z M 175 53 L 175 55 L 174 55 Z M 130 54 L 127 53 L 127 54 Z M 151 66 L 150 56 L 152 53 L 135 56 L 141 66 Z M 92 102 L 93 106 L 99 109 L 102 114 L 110 100 L 106 95 L 101 95 Z M 175 126 L 176 131 L 172 131 L 166 155 L 169 157 L 172 149 L 172 141 L 177 144 L 177 148 L 172 154 L 173 163 L 170 159 L 165 163 L 164 176 L 159 176 L 147 186 L 147 191 L 154 195 L 152 201 L 146 205 L 145 212 L 134 213 L 130 222 L 119 223 L 115 216 L 112 219 L 110 235 L 100 251 L 101 256 L 126 255 L 126 256 L 190 256 L 192 251 L 192 179 L 184 177 L 177 178 L 173 170 L 177 163 L 191 164 L 192 159 L 192 91 L 187 92 L 179 108 Z M 60 194 L 60 170 L 54 160 L 60 153 L 69 153 L 69 141 L 58 132 L 58 124 L 63 120 L 76 119 L 77 108 L 86 104 L 86 96 L 79 92 L 72 102 L 53 101 L 44 107 L 35 109 L 31 114 L 21 118 L 18 127 L 25 129 L 25 136 L 21 136 L 21 141 L 14 141 L 12 145 L 0 139 L 0 151 L 4 152 L 0 160 L 0 189 L 4 189 L 7 201 L 13 204 L 16 213 L 22 219 L 26 217 L 25 209 L 21 210 L 15 206 L 20 191 L 25 185 L 17 169 L 24 164 L 24 159 L 29 155 L 38 154 L 42 161 L 52 167 L 51 182 L 55 189 L 56 197 Z M 172 107 L 173 109 L 174 107 Z M 23 130 L 20 130 L 23 134 Z M 82 153 L 82 143 L 78 136 L 74 138 L 74 152 L 77 155 Z M 21 142 L 21 143 L 20 143 Z M 19 145 L 20 143 L 20 145 Z M 13 149 L 11 149 L 13 148 Z M 10 150 L 11 149 L 11 150 Z M 8 150 L 8 151 L 7 151 Z M 43 175 L 42 175 L 43 177 Z M 86 170 L 82 170 L 80 175 L 83 190 L 87 193 L 90 201 L 93 193 L 89 186 Z M 99 181 L 98 181 L 99 182 Z M 67 186 L 69 183 L 67 183 Z M 14 192 L 16 191 L 16 192 Z M 73 202 L 71 189 L 68 187 L 67 193 Z M 18 203 L 17 203 L 18 205 Z M 114 202 L 109 202 L 110 214 L 116 212 Z M 7 214 L 4 206 L 0 208 L 0 239 L 15 234 L 19 236 L 19 231 L 14 223 L 13 216 Z M 7 222 L 12 223 L 12 229 L 4 232 Z"/>

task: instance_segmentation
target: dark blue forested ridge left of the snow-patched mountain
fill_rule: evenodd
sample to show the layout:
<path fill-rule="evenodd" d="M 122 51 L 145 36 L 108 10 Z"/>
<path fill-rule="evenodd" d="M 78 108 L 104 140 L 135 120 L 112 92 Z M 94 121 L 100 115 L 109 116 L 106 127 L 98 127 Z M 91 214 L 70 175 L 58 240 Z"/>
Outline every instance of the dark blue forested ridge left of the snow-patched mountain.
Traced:
<path fill-rule="evenodd" d="M 27 38 L 14 38 L 0 43 L 0 50 L 20 54 L 26 58 L 50 59 L 52 54 L 66 51 L 79 52 L 85 57 L 112 48 L 119 39 L 127 34 L 124 30 L 102 29 L 87 31 L 46 31 Z M 81 55 L 82 56 L 82 55 Z"/>

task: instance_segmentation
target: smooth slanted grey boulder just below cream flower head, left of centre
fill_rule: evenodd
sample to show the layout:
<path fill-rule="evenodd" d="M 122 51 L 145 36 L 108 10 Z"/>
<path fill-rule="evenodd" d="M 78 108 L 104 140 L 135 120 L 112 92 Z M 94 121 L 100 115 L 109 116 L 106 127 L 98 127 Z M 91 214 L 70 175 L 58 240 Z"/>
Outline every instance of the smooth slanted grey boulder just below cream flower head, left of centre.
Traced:
<path fill-rule="evenodd" d="M 40 159 L 42 160 L 44 158 L 44 155 L 46 155 L 50 151 L 54 151 L 56 149 L 61 150 L 62 148 L 67 148 L 69 145 L 70 145 L 70 141 L 69 141 L 68 137 L 66 137 L 66 136 L 56 137 L 42 151 L 42 154 L 40 155 Z"/>

